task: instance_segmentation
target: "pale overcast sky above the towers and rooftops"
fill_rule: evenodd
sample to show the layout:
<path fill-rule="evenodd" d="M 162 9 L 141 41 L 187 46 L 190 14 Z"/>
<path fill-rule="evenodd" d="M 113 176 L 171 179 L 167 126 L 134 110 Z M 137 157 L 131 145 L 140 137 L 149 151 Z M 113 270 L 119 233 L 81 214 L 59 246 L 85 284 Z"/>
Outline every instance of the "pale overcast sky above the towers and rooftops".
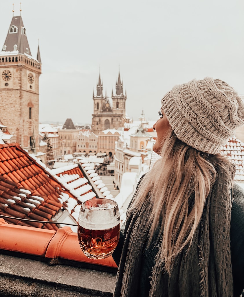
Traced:
<path fill-rule="evenodd" d="M 1 0 L 0 48 L 20 2 Z M 175 84 L 220 78 L 244 94 L 243 0 L 21 0 L 32 56 L 42 59 L 39 120 L 91 123 L 99 76 L 111 97 L 120 75 L 126 112 L 157 120 Z M 96 94 L 96 93 L 95 93 Z"/>

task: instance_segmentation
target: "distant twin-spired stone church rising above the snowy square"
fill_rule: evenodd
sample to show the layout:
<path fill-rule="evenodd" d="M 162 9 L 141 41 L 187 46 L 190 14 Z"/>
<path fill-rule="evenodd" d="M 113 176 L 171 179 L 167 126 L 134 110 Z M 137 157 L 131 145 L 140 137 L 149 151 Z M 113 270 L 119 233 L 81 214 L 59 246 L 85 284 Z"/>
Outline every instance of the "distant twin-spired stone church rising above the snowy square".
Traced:
<path fill-rule="evenodd" d="M 130 121 L 126 116 L 125 102 L 127 96 L 126 91 L 124 94 L 123 83 L 120 80 L 120 73 L 118 81 L 116 82 L 116 93 L 113 93 L 111 99 L 103 95 L 103 84 L 101 82 L 101 76 L 97 83 L 97 94 L 93 93 L 93 118 L 92 118 L 92 131 L 95 134 L 106 129 L 118 129 L 124 126 L 124 123 Z"/>

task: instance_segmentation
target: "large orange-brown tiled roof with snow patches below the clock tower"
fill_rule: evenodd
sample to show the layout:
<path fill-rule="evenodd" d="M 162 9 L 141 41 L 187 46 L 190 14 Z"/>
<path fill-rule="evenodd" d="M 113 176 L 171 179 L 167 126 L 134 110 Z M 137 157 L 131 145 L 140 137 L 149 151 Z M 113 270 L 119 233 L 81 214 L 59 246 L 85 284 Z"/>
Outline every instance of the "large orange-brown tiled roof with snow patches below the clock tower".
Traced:
<path fill-rule="evenodd" d="M 82 174 L 77 170 L 76 173 Z M 0 215 L 50 221 L 60 211 L 74 212 L 68 208 L 68 200 L 72 200 L 74 205 L 81 204 L 75 195 L 18 144 L 0 145 L 0 174 Z M 15 225 L 50 230 L 59 228 L 58 225 L 42 222 L 11 218 L 5 220 Z"/>

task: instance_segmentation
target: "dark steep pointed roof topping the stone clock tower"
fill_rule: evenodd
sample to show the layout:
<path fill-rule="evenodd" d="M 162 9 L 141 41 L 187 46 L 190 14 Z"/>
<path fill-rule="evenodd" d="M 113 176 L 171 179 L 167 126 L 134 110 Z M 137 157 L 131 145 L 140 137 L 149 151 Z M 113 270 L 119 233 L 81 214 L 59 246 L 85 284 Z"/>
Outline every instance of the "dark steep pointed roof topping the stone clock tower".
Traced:
<path fill-rule="evenodd" d="M 4 42 L 4 51 L 12 52 L 15 45 L 17 45 L 17 50 L 19 51 L 19 53 L 27 53 L 31 56 L 31 50 L 26 37 L 26 31 L 21 16 L 12 18 L 8 34 Z"/>

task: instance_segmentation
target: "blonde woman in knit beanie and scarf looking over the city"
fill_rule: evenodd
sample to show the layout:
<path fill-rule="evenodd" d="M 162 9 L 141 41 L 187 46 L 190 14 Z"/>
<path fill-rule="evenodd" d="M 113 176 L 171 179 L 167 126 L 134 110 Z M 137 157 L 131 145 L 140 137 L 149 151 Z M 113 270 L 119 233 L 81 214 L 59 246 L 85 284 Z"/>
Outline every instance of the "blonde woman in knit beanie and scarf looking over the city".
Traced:
<path fill-rule="evenodd" d="M 244 194 L 220 152 L 244 124 L 243 102 L 212 78 L 175 86 L 161 102 L 153 150 L 162 158 L 128 208 L 114 297 L 240 296 Z"/>

